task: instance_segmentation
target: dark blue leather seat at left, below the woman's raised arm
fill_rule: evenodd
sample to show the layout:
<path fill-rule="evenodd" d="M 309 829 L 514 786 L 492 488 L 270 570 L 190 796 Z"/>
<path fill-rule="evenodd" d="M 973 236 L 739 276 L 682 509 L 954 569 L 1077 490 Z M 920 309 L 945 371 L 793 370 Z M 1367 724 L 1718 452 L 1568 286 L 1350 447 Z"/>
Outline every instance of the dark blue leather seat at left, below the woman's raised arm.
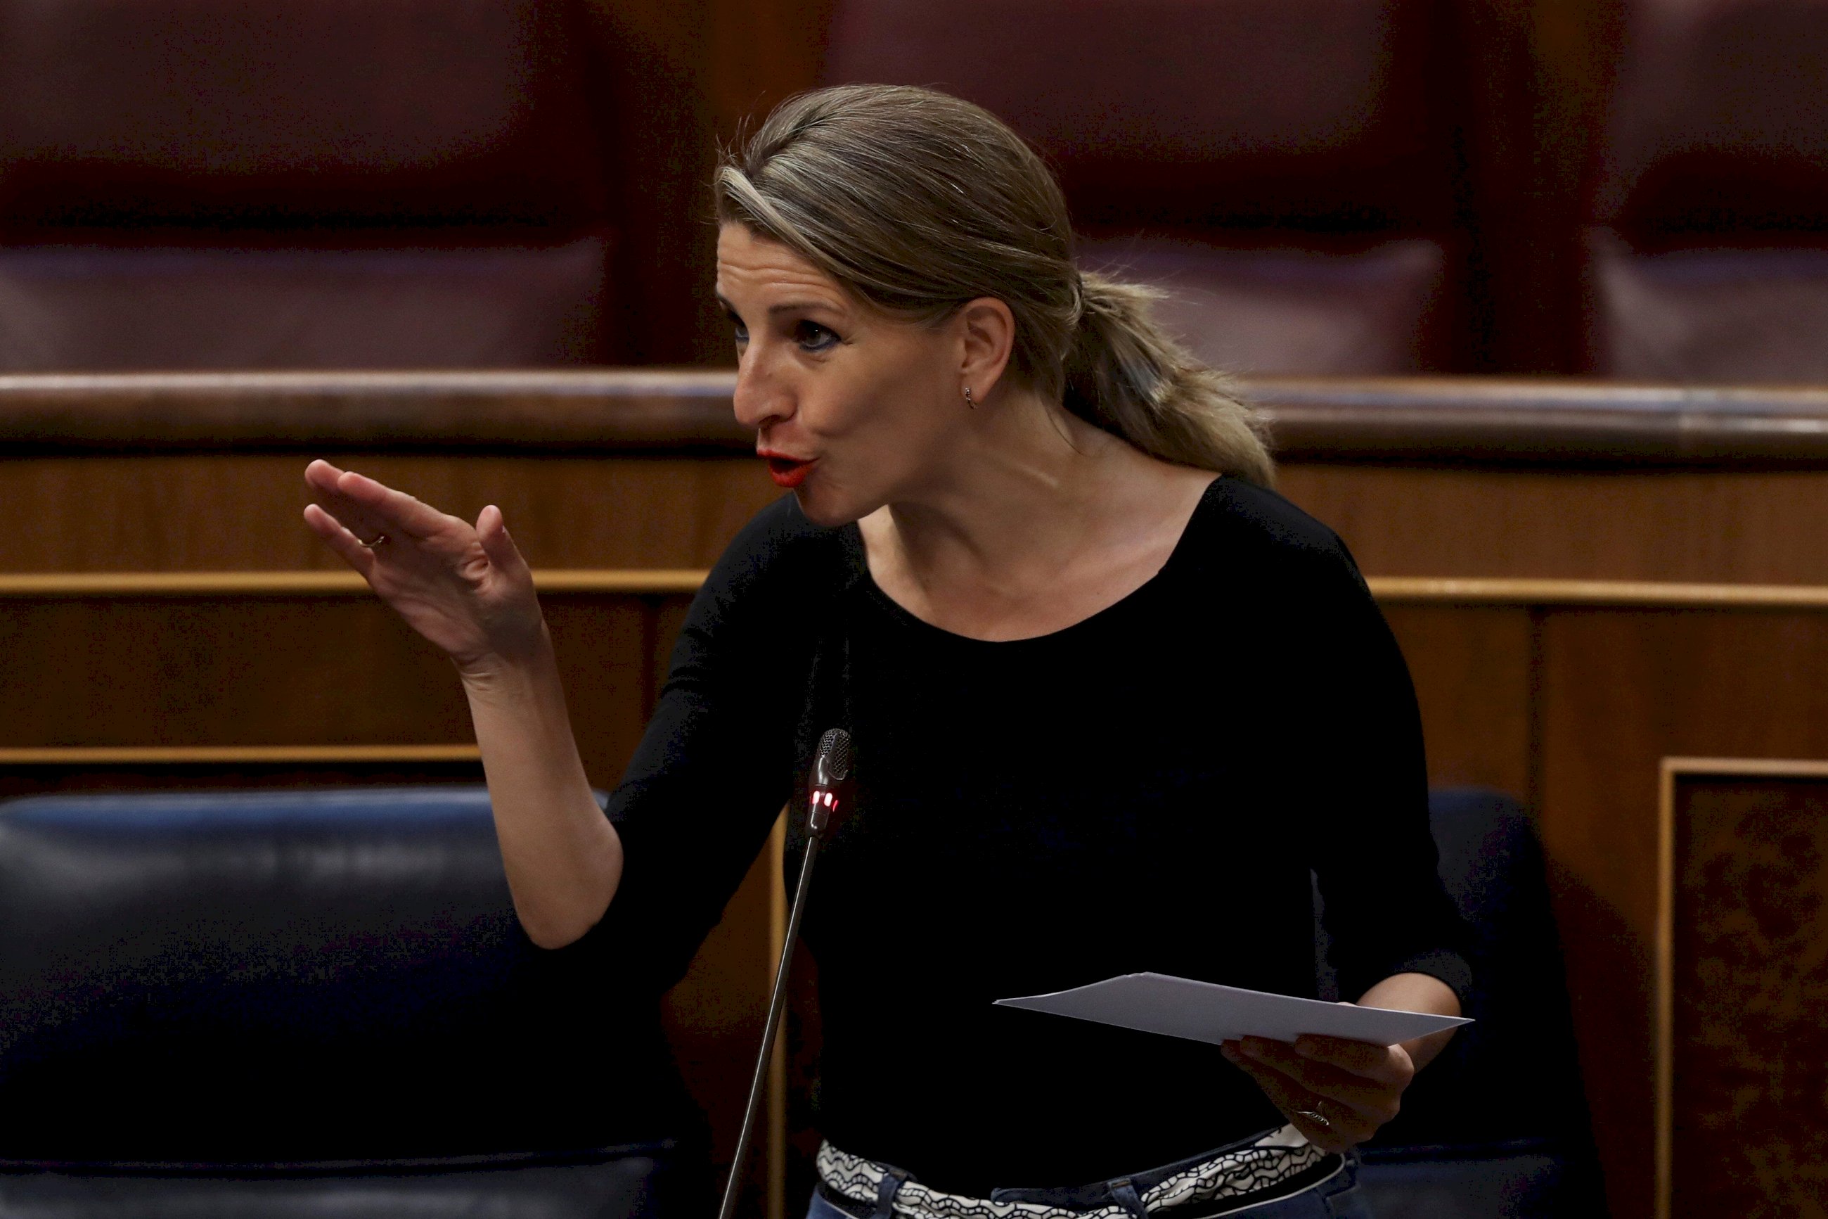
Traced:
<path fill-rule="evenodd" d="M 0 804 L 0 1214 L 702 1210 L 609 972 L 521 934 L 483 788 Z"/>

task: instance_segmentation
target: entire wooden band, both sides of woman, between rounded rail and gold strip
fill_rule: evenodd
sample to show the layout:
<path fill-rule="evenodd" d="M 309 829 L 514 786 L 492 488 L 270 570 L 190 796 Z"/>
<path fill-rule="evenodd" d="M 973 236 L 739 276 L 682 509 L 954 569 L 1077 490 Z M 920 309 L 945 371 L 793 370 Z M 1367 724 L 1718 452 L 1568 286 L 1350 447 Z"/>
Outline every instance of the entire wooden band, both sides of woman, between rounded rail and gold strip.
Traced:
<path fill-rule="evenodd" d="M 709 567 L 779 497 L 749 459 L 325 453 L 466 519 L 497 503 L 537 567 Z M 0 570 L 333 570 L 302 457 L 0 461 Z M 1281 490 L 1378 576 L 1828 585 L 1797 519 L 1819 472 L 1289 466 Z"/>

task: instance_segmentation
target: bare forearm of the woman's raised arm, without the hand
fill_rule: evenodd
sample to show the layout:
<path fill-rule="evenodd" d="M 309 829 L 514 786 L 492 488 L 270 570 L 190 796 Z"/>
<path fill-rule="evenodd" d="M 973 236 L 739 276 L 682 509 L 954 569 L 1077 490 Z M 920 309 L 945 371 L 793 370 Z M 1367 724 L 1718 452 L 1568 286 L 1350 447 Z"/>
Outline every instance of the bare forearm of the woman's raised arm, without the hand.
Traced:
<path fill-rule="evenodd" d="M 572 943 L 609 908 L 622 839 L 578 758 L 552 643 L 464 671 L 514 910 L 541 949 Z"/>

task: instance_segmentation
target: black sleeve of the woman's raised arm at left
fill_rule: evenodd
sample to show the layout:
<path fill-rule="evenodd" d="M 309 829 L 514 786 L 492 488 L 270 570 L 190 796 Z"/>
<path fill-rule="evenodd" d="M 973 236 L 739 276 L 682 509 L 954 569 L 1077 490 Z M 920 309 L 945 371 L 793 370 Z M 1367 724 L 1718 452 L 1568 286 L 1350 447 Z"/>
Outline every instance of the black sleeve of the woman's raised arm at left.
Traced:
<path fill-rule="evenodd" d="M 684 976 L 792 791 L 813 610 L 834 550 L 834 535 L 784 497 L 718 559 L 609 799 L 623 846 L 616 897 L 561 952 L 592 954 L 660 989 Z"/>

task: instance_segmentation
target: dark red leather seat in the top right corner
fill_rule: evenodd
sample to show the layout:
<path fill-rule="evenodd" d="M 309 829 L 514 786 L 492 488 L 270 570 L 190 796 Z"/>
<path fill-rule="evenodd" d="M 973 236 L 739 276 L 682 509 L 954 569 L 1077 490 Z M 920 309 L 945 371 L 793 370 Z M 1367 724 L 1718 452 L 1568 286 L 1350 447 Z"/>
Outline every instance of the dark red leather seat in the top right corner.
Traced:
<path fill-rule="evenodd" d="M 1828 2 L 1631 0 L 1614 80 L 1589 367 L 1828 380 Z"/>

